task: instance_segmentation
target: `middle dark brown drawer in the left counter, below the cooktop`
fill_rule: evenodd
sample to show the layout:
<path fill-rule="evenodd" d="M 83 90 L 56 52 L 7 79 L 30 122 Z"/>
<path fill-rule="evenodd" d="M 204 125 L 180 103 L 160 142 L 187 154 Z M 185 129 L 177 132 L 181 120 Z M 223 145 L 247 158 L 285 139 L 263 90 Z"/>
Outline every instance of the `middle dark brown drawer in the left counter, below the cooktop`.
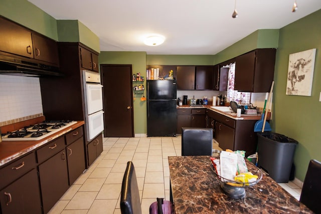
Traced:
<path fill-rule="evenodd" d="M 41 163 L 65 148 L 65 138 L 60 137 L 37 150 L 38 163 Z"/>

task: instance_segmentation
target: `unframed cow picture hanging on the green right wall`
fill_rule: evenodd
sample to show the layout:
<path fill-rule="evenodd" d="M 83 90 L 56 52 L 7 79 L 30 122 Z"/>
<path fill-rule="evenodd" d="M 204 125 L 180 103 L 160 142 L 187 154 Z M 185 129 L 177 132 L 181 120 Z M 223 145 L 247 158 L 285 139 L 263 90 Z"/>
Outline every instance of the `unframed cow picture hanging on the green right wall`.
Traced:
<path fill-rule="evenodd" d="M 289 56 L 287 71 L 287 95 L 311 96 L 316 49 Z"/>

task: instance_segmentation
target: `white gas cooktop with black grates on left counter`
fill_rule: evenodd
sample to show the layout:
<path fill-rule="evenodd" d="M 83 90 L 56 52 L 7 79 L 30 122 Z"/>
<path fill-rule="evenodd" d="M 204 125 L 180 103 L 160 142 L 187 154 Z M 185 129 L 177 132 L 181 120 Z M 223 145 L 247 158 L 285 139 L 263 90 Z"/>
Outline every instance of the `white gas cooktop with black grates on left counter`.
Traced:
<path fill-rule="evenodd" d="M 3 141 L 28 141 L 41 140 L 60 130 L 68 128 L 77 123 L 77 121 L 59 120 L 59 121 L 44 121 L 34 125 L 26 126 L 22 129 L 2 134 Z"/>

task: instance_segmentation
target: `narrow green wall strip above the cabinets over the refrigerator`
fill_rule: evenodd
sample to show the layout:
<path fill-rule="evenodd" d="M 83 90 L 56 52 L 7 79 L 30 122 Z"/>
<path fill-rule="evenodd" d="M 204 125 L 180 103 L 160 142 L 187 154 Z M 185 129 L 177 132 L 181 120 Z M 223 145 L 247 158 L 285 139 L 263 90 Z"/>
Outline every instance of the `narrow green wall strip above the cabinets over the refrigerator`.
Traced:
<path fill-rule="evenodd" d="M 147 65 L 214 65 L 214 55 L 147 55 Z"/>

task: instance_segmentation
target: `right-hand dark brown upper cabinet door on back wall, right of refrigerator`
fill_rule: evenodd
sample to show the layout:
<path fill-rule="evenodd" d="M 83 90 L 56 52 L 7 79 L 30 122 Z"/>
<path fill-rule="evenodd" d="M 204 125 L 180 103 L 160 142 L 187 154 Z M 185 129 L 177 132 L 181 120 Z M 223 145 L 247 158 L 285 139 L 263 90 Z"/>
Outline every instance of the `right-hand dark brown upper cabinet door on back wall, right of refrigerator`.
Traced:
<path fill-rule="evenodd" d="M 213 90 L 214 66 L 196 66 L 196 90 Z"/>

